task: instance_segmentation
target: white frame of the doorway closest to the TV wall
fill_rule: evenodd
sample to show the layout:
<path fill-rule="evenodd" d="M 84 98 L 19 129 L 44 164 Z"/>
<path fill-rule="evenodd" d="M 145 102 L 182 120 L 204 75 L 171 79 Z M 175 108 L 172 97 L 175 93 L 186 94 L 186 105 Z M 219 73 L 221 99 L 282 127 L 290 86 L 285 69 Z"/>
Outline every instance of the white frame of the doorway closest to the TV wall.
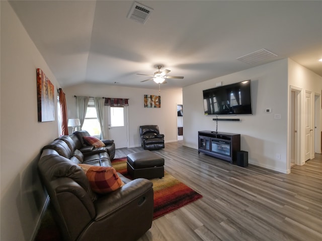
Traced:
<path fill-rule="evenodd" d="M 291 104 L 293 103 L 292 102 L 292 92 L 295 93 L 294 95 L 294 115 L 295 115 L 295 125 L 294 125 L 294 131 L 296 131 L 295 135 L 294 135 L 294 142 L 295 142 L 295 145 L 294 145 L 294 149 L 295 150 L 292 150 L 292 146 L 291 146 L 291 132 L 293 130 L 291 130 L 291 118 L 293 117 L 292 116 L 292 112 L 291 112 Z M 298 88 L 298 87 L 295 87 L 295 86 L 292 86 L 290 85 L 290 90 L 289 90 L 289 119 L 288 119 L 288 161 L 287 161 L 287 170 L 291 171 L 291 152 L 294 152 L 294 163 L 296 165 L 302 165 L 301 163 L 301 160 L 300 160 L 300 157 L 301 157 L 301 99 L 302 99 L 302 89 L 301 88 Z"/>

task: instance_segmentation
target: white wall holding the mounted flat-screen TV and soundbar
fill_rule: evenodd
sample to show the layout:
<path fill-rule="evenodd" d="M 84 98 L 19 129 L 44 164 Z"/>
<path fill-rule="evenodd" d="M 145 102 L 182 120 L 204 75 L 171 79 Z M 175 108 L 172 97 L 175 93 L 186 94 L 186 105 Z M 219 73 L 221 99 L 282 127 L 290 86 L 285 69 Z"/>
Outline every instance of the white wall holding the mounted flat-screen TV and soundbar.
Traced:
<path fill-rule="evenodd" d="M 184 145 L 198 149 L 198 131 L 216 130 L 214 116 L 204 115 L 202 90 L 213 88 L 219 82 L 226 85 L 251 79 L 254 114 L 230 116 L 240 118 L 240 122 L 218 122 L 218 132 L 241 134 L 240 148 L 249 152 L 250 164 L 288 173 L 287 64 L 287 59 L 283 59 L 183 88 Z M 266 113 L 266 108 L 272 112 Z M 281 119 L 274 119 L 274 114 L 281 114 Z"/>

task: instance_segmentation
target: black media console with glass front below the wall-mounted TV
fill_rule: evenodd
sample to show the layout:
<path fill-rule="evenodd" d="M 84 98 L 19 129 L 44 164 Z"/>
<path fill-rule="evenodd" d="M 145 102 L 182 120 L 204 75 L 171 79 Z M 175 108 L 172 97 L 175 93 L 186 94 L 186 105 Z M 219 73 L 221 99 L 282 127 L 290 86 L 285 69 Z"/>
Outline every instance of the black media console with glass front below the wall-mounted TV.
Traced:
<path fill-rule="evenodd" d="M 216 133 L 213 131 L 198 132 L 198 154 L 201 152 L 231 164 L 236 161 L 240 151 L 240 134 Z"/>

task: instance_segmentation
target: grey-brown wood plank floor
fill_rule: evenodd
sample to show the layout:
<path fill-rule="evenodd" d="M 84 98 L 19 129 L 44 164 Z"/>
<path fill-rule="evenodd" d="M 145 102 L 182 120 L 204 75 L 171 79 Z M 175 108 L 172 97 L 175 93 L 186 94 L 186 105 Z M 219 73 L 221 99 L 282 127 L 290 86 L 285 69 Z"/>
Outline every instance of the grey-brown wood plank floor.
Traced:
<path fill-rule="evenodd" d="M 116 157 L 142 151 L 118 149 Z M 322 155 L 283 174 L 238 167 L 182 142 L 154 151 L 203 198 L 155 219 L 146 240 L 322 240 Z"/>

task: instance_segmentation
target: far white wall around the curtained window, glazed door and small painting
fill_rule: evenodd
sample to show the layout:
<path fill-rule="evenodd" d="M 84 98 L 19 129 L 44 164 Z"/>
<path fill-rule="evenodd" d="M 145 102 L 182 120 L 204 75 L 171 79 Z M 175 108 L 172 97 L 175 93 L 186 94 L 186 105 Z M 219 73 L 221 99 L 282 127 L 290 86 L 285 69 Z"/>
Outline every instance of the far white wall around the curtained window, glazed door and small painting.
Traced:
<path fill-rule="evenodd" d="M 158 125 L 165 142 L 177 141 L 177 103 L 182 102 L 182 89 L 161 88 L 161 108 L 144 108 L 144 94 L 158 95 L 155 89 L 130 88 L 120 85 L 79 84 L 63 88 L 66 94 L 68 118 L 77 117 L 76 96 L 111 97 L 129 99 L 129 147 L 139 147 L 139 126 Z M 117 143 L 115 144 L 117 147 Z"/>

